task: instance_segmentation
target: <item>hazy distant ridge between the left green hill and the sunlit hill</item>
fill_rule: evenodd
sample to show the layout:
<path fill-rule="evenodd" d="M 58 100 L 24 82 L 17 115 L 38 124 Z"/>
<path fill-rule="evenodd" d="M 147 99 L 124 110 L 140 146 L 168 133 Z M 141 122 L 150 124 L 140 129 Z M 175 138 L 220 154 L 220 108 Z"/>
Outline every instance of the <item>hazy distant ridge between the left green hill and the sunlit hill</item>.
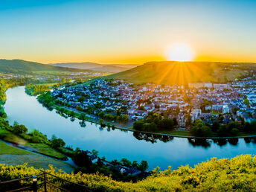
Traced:
<path fill-rule="evenodd" d="M 51 65 L 67 68 L 80 68 L 80 69 L 90 69 L 93 71 L 100 71 L 106 73 L 118 73 L 121 71 L 126 71 L 127 69 L 134 68 L 135 64 L 99 64 L 99 63 L 53 63 Z"/>

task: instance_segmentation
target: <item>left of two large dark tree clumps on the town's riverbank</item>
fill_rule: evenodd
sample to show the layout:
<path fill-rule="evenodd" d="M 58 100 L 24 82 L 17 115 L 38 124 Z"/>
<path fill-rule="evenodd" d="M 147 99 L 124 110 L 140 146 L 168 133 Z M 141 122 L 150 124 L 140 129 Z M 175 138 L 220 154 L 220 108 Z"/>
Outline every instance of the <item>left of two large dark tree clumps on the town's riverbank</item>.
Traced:
<path fill-rule="evenodd" d="M 176 118 L 170 119 L 150 112 L 147 118 L 135 121 L 133 123 L 133 129 L 156 132 L 159 130 L 173 130 L 177 124 Z"/>

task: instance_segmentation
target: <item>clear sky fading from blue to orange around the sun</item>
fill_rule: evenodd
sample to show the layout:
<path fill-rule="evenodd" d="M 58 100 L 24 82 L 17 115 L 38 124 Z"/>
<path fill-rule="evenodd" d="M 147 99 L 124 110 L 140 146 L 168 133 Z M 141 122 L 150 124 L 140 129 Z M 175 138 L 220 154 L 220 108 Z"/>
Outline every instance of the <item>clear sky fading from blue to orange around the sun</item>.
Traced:
<path fill-rule="evenodd" d="M 0 58 L 39 63 L 256 63 L 256 1 L 0 0 Z"/>

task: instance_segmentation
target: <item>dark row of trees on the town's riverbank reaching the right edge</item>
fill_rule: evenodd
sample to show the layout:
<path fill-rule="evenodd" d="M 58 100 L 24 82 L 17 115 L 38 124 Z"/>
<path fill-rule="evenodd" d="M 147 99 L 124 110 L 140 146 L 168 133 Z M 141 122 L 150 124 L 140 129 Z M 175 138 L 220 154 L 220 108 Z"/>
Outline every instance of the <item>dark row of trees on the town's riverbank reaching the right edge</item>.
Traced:
<path fill-rule="evenodd" d="M 249 122 L 230 122 L 229 124 L 220 124 L 214 122 L 211 126 L 203 123 L 201 120 L 196 121 L 190 129 L 192 135 L 205 137 L 211 136 L 213 133 L 220 137 L 236 136 L 239 132 L 256 132 L 256 121 Z"/>

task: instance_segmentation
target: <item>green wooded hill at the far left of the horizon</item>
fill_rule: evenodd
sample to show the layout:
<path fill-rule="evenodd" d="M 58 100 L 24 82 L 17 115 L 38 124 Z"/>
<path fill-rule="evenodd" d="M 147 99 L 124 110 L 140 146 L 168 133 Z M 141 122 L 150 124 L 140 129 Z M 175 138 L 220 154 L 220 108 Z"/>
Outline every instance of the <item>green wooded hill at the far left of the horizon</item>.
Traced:
<path fill-rule="evenodd" d="M 33 71 L 79 71 L 77 68 L 63 68 L 25 60 L 0 60 L 1 73 L 22 73 Z"/>

